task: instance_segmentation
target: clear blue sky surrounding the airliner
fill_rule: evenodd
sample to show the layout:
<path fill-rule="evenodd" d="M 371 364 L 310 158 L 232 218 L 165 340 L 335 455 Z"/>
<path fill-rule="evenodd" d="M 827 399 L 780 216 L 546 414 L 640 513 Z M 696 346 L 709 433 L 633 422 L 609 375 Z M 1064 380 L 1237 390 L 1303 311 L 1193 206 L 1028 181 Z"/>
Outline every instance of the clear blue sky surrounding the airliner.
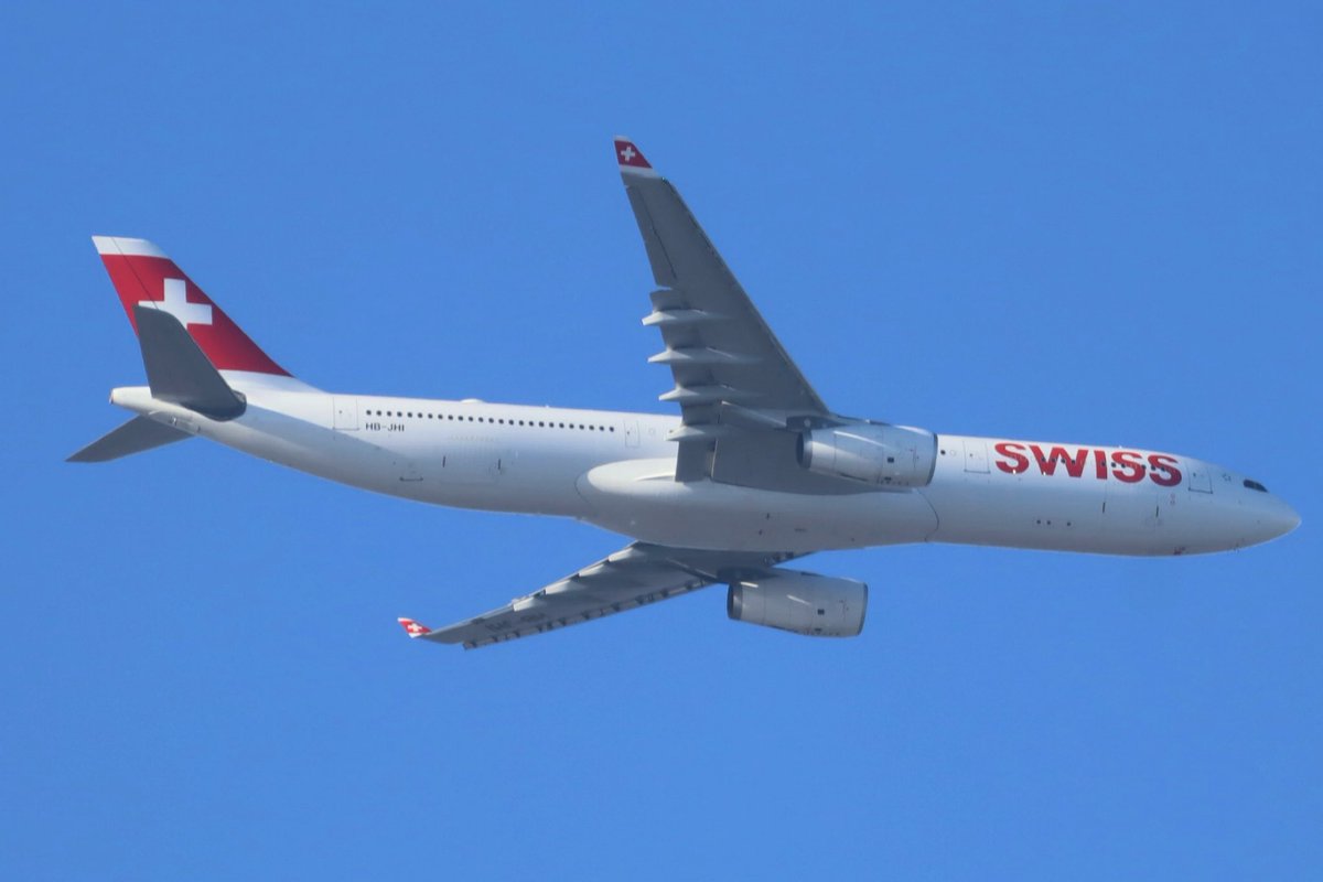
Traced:
<path fill-rule="evenodd" d="M 1318 4 L 0 11 L 0 877 L 1318 878 Z M 941 7 L 941 8 L 929 8 Z M 667 413 L 638 140 L 835 409 L 1174 450 L 1233 554 L 823 554 L 460 652 L 623 541 L 191 442 L 106 465 L 159 242 L 329 390 Z"/>

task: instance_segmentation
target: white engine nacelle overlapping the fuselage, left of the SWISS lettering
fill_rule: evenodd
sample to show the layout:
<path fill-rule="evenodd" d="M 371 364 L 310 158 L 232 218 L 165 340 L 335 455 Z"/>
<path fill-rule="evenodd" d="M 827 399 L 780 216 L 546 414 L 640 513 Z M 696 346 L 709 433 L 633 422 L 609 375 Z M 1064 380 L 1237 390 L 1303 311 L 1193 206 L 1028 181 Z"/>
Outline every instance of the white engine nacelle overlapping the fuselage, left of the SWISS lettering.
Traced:
<path fill-rule="evenodd" d="M 811 472 L 882 487 L 926 487 L 937 468 L 937 435 L 922 428 L 855 423 L 799 436 L 799 464 Z"/>

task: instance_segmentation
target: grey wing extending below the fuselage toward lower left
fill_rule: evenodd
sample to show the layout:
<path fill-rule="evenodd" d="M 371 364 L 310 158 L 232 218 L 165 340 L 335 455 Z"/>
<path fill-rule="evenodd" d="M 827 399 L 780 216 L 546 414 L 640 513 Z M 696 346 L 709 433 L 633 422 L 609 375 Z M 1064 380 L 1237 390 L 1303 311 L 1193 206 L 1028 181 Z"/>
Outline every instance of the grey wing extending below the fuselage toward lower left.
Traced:
<path fill-rule="evenodd" d="M 460 643 L 464 649 L 475 649 L 635 610 L 717 582 L 749 578 L 792 557 L 635 542 L 475 619 L 437 629 L 413 619 L 400 619 L 400 624 L 410 637 Z"/>

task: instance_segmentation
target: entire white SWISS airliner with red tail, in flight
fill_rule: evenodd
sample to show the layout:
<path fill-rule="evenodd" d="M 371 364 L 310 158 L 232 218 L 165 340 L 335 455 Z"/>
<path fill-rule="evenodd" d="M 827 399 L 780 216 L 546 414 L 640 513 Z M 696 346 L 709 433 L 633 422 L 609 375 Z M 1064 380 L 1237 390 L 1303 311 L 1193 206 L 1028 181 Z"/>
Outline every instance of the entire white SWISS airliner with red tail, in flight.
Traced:
<path fill-rule="evenodd" d="M 868 586 L 782 565 L 951 542 L 1125 555 L 1241 549 L 1299 516 L 1258 481 L 1191 456 L 947 435 L 844 417 L 791 361 L 676 188 L 614 140 L 652 268 L 643 324 L 679 417 L 327 393 L 271 360 L 164 251 L 93 237 L 138 333 L 136 414 L 70 456 L 106 461 L 202 436 L 378 493 L 570 517 L 630 538 L 472 619 L 410 637 L 464 648 L 728 586 L 730 619 L 806 636 L 863 631 Z"/>

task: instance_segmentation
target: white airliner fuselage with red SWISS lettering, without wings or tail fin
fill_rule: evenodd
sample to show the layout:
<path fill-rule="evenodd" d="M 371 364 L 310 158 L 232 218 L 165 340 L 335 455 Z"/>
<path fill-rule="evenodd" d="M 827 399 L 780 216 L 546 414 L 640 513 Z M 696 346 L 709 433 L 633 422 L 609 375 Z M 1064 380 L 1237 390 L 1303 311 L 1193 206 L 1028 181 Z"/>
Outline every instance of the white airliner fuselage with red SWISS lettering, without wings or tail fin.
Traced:
<path fill-rule="evenodd" d="M 156 401 L 147 387 L 116 389 L 111 401 L 378 493 L 573 517 L 679 547 L 808 553 L 931 541 L 1193 554 L 1262 542 L 1298 522 L 1290 506 L 1241 475 L 1132 448 L 938 435 L 925 487 L 790 493 L 677 483 L 676 444 L 667 440 L 679 426 L 672 417 L 332 395 L 235 372 L 226 380 L 247 399 L 229 422 Z M 1118 452 L 1129 459 L 1114 461 Z M 1175 465 L 1148 471 L 1150 456 Z"/>

